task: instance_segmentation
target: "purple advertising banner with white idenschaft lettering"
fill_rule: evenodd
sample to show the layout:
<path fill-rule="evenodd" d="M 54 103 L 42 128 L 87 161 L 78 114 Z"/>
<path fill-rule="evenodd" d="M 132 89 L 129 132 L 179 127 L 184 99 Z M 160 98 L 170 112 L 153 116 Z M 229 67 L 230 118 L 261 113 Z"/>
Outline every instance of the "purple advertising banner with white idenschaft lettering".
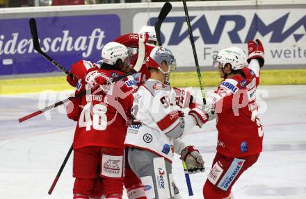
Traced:
<path fill-rule="evenodd" d="M 104 44 L 120 35 L 118 15 L 35 19 L 42 51 L 68 70 L 78 60 L 99 60 Z M 29 18 L 0 19 L 0 76 L 55 71 L 59 70 L 33 49 Z"/>

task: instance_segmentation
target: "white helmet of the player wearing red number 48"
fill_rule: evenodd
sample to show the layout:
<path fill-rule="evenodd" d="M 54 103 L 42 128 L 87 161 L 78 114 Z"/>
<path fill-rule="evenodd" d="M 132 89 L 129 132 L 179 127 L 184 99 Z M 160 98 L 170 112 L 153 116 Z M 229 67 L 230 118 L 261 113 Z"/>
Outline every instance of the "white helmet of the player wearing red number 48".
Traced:
<path fill-rule="evenodd" d="M 118 42 L 109 42 L 102 49 L 102 61 L 106 64 L 114 65 L 117 60 L 124 62 L 129 58 L 129 50 Z"/>

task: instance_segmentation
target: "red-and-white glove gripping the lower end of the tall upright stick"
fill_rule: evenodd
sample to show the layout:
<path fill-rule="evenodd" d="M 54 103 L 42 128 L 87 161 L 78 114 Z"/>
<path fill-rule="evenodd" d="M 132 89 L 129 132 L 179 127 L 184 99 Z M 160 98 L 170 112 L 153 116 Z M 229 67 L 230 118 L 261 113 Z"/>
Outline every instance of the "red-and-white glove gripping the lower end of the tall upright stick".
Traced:
<path fill-rule="evenodd" d="M 207 121 L 216 118 L 216 112 L 214 108 L 211 107 L 198 106 L 190 110 L 188 114 L 195 118 L 195 122 L 200 128 L 202 128 L 203 124 L 207 123 Z"/>

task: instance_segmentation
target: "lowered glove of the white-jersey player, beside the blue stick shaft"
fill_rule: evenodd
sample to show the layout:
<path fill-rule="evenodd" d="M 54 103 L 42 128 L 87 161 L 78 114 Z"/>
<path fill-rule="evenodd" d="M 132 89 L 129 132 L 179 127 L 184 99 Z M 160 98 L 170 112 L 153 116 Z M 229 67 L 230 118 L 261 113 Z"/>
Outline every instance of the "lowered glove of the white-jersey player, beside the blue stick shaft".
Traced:
<path fill-rule="evenodd" d="M 195 146 L 186 146 L 181 153 L 180 159 L 184 160 L 188 173 L 204 172 L 204 160 Z"/>

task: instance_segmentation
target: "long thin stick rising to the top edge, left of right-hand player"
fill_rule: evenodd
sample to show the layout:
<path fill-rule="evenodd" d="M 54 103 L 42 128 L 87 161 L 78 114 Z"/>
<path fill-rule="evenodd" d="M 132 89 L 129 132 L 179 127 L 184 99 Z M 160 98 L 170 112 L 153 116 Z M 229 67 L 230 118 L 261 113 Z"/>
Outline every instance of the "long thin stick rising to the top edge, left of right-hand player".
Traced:
<path fill-rule="evenodd" d="M 195 58 L 195 67 L 197 68 L 197 74 L 198 74 L 198 80 L 199 80 L 199 83 L 200 83 L 200 89 L 201 89 L 201 94 L 202 94 L 202 98 L 203 98 L 203 104 L 205 105 L 206 104 L 205 91 L 204 91 L 204 87 L 202 85 L 202 76 L 201 76 L 201 71 L 200 71 L 200 67 L 199 67 L 197 51 L 195 51 L 195 41 L 193 40 L 193 31 L 191 29 L 191 24 L 190 24 L 190 19 L 189 19 L 189 15 L 188 15 L 186 0 L 183 0 L 183 5 L 184 5 L 185 17 L 186 17 L 186 22 L 187 22 L 188 31 L 189 31 L 190 42 L 191 42 L 191 46 L 192 46 L 192 49 L 193 49 L 193 57 Z"/>

